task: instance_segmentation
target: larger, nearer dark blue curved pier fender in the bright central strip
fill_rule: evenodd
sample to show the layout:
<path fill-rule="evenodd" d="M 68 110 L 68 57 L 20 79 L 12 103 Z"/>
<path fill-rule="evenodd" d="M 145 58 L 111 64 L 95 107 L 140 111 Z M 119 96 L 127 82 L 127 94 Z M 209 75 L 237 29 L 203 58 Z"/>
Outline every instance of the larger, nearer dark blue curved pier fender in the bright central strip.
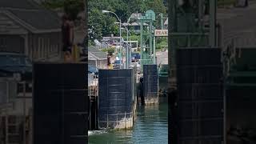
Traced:
<path fill-rule="evenodd" d="M 134 126 L 136 75 L 134 69 L 99 70 L 99 129 L 126 130 Z"/>

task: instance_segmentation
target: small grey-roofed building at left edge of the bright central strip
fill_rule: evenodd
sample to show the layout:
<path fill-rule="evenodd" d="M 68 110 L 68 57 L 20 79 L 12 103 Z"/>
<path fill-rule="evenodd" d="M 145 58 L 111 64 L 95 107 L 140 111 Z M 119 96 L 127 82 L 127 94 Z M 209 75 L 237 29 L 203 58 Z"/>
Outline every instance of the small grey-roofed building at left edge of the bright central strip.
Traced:
<path fill-rule="evenodd" d="M 98 69 L 106 69 L 107 54 L 94 46 L 88 47 L 88 65 L 96 66 Z"/>

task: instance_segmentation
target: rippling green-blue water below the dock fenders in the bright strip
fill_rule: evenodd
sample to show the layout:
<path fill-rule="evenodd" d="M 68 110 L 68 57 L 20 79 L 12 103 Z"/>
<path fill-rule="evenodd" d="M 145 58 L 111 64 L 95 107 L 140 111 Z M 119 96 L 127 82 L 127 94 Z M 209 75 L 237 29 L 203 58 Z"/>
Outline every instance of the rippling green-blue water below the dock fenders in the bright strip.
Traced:
<path fill-rule="evenodd" d="M 139 106 L 133 130 L 92 131 L 89 144 L 167 144 L 168 105 L 167 100 L 158 106 Z"/>

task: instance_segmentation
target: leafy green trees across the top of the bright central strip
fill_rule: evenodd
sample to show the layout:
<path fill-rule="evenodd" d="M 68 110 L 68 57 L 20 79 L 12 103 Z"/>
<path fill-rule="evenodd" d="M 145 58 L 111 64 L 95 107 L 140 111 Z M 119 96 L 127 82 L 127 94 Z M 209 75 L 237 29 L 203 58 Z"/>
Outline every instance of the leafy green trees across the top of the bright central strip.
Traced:
<path fill-rule="evenodd" d="M 160 13 L 166 15 L 166 7 L 163 5 L 162 0 L 89 0 L 88 5 L 88 26 L 93 31 L 90 34 L 92 39 L 101 39 L 102 36 L 110 36 L 110 34 L 119 36 L 119 27 L 117 24 L 114 24 L 114 22 L 118 22 L 118 19 L 114 14 L 102 14 L 102 10 L 113 11 L 122 22 L 127 22 L 133 13 L 144 13 L 146 10 L 154 10 L 158 18 L 157 25 L 161 24 L 158 15 Z M 126 34 L 126 32 L 122 31 L 122 34 Z M 126 38 L 126 35 L 123 36 Z M 140 37 L 134 40 L 139 39 Z"/>

